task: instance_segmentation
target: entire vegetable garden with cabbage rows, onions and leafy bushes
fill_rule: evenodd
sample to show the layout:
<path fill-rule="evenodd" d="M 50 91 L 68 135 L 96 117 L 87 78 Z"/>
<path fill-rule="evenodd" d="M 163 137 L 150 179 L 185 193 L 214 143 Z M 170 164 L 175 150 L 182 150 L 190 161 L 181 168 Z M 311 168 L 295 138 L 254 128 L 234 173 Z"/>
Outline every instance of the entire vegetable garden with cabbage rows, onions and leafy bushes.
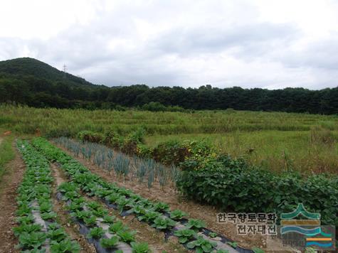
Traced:
<path fill-rule="evenodd" d="M 95 137 L 91 141 L 99 139 L 98 143 L 88 142 L 85 134 Z M 137 133 L 119 145 L 114 144 L 118 142 L 114 134 L 109 143 L 85 134 L 83 141 L 65 137 L 53 142 L 43 138 L 16 141 L 26 164 L 16 198 L 16 249 L 85 252 L 83 242 L 79 243 L 60 224 L 53 206 L 56 200 L 67 219 L 78 228 L 78 235 L 95 252 L 159 252 L 147 238 L 139 239 L 143 231 L 135 227 L 141 224 L 159 233 L 163 242 L 175 238 L 172 250 L 162 252 L 263 252 L 259 247 L 241 247 L 230 237 L 212 230 L 203 219 L 190 217 L 168 203 L 150 200 L 123 186 L 131 181 L 147 185 L 149 193 L 154 186 L 163 192 L 174 188 L 175 194 L 183 198 L 225 211 L 279 215 L 304 203 L 310 212 L 322 214 L 324 224 L 338 225 L 337 176 L 304 178 L 295 171 L 275 174 L 250 166 L 242 159 L 217 154 L 203 142 L 169 142 L 149 150 L 142 146 Z M 80 158 L 107 173 L 112 181 L 80 163 Z M 56 171 L 63 175 L 61 182 L 55 183 Z M 133 228 L 126 224 L 126 218 Z"/>

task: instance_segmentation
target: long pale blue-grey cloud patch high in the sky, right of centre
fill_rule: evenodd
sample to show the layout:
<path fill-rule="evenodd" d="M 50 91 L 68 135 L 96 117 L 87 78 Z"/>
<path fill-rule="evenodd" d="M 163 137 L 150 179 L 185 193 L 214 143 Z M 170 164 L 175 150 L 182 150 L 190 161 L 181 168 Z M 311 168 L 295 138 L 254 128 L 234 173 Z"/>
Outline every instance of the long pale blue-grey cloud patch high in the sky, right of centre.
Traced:
<path fill-rule="evenodd" d="M 290 24 L 253 23 L 228 28 L 220 23 L 218 26 L 175 28 L 151 44 L 163 53 L 179 55 L 218 53 L 238 48 L 237 55 L 249 57 L 271 50 L 273 43 L 288 43 L 296 37 L 297 29 Z"/>

